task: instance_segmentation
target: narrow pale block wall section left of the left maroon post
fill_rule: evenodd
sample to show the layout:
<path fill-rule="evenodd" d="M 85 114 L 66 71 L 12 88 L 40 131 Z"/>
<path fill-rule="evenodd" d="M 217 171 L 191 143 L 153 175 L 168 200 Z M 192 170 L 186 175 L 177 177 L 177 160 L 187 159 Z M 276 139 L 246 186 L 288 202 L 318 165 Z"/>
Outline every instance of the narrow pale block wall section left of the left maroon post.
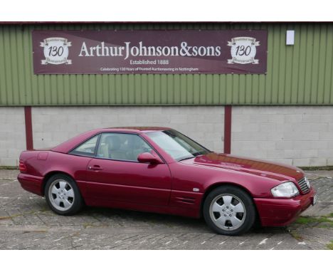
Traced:
<path fill-rule="evenodd" d="M 17 166 L 26 149 L 23 107 L 0 107 L 0 166 Z"/>

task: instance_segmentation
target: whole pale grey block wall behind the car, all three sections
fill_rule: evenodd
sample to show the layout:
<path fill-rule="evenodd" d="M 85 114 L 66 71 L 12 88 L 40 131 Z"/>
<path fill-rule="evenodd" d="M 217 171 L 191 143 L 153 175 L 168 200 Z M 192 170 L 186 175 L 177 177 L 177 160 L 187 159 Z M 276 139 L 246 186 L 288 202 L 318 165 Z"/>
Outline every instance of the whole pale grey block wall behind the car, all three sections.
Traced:
<path fill-rule="evenodd" d="M 223 106 L 33 107 L 33 146 L 96 127 L 173 127 L 223 152 Z M 233 106 L 231 153 L 296 166 L 333 165 L 333 106 Z M 0 166 L 26 149 L 23 107 L 0 108 Z"/>

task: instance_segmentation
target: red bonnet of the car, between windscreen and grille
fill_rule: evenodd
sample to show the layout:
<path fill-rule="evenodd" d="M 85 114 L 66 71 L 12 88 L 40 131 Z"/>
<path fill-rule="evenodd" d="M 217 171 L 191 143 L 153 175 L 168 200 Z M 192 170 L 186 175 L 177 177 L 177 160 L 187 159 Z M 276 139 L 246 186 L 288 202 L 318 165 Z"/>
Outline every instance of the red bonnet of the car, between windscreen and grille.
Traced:
<path fill-rule="evenodd" d="M 304 172 L 302 172 L 301 169 L 287 164 L 266 162 L 260 159 L 250 159 L 248 157 L 218 154 L 215 152 L 210 152 L 207 155 L 201 155 L 192 159 L 186 159 L 181 162 L 246 172 L 248 174 L 269 177 L 280 181 L 287 179 L 299 180 L 304 176 Z"/>

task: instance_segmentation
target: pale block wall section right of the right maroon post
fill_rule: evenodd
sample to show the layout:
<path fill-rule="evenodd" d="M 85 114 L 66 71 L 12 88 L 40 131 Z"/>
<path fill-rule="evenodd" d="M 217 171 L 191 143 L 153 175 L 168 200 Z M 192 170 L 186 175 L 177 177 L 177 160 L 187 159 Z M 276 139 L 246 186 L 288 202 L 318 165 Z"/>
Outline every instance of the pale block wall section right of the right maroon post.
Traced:
<path fill-rule="evenodd" d="M 332 106 L 235 106 L 231 131 L 235 155 L 333 165 Z"/>

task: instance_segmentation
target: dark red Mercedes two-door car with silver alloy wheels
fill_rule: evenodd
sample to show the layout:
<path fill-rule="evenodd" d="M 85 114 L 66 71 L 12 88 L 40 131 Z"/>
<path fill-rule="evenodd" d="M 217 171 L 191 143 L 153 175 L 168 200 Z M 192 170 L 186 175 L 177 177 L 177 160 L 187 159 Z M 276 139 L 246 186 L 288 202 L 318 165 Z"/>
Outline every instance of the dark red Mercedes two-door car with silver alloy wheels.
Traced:
<path fill-rule="evenodd" d="M 316 202 L 302 169 L 212 152 L 168 127 L 85 132 L 49 150 L 27 150 L 18 182 L 60 215 L 105 206 L 203 218 L 240 235 L 255 222 L 285 226 Z"/>

